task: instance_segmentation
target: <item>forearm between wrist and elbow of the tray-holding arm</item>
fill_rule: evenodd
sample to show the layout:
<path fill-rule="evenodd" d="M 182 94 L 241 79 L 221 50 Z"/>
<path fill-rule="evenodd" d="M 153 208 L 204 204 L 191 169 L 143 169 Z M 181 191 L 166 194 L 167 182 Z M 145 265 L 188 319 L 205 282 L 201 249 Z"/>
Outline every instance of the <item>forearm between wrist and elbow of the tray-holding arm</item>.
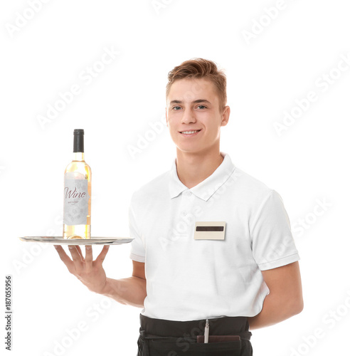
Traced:
<path fill-rule="evenodd" d="M 139 277 L 123 279 L 107 278 L 102 295 L 106 295 L 117 302 L 143 308 L 146 298 L 146 280 Z"/>

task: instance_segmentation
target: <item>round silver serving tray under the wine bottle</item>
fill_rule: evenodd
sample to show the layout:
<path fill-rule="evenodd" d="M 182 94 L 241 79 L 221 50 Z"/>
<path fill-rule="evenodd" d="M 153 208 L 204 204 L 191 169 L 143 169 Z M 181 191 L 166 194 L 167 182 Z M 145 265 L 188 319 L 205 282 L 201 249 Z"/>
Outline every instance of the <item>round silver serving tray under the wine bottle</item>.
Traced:
<path fill-rule="evenodd" d="M 25 242 L 41 242 L 53 245 L 121 245 L 131 242 L 129 237 L 92 237 L 91 239 L 63 239 L 62 236 L 24 236 L 19 238 Z"/>

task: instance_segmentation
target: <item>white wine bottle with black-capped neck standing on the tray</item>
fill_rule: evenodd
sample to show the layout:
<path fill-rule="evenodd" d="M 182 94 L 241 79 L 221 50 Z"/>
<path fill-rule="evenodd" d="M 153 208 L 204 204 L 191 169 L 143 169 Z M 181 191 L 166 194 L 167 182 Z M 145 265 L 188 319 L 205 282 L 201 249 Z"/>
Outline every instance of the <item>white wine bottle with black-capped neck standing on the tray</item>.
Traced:
<path fill-rule="evenodd" d="M 63 238 L 91 239 L 91 169 L 84 160 L 84 130 L 74 130 L 73 161 L 65 169 Z"/>

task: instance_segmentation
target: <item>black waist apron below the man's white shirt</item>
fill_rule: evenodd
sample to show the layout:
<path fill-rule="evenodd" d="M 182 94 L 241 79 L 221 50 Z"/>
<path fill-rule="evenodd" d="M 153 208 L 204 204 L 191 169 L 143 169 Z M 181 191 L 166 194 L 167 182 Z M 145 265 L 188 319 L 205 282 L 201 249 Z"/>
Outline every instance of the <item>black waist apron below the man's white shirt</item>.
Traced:
<path fill-rule="evenodd" d="M 240 340 L 197 342 L 204 335 L 206 320 L 173 321 L 147 318 L 140 314 L 137 356 L 252 356 L 248 319 L 209 319 L 209 335 L 239 335 Z"/>

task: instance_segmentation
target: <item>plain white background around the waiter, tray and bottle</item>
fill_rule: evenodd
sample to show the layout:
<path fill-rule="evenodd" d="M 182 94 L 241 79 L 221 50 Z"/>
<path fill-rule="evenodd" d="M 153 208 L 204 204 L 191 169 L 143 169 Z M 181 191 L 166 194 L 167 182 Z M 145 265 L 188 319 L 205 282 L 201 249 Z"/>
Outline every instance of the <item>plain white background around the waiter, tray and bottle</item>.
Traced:
<path fill-rule="evenodd" d="M 253 331 L 255 355 L 345 355 L 349 1 L 153 1 L 159 8 L 151 0 L 32 2 L 35 13 L 30 0 L 1 1 L 0 9 L 1 288 L 11 274 L 11 355 L 136 355 L 140 309 L 90 293 L 53 246 L 18 236 L 61 234 L 75 128 L 85 130 L 92 167 L 92 235 L 128 236 L 132 192 L 169 170 L 175 157 L 164 127 L 167 73 L 194 57 L 226 70 L 231 115 L 221 151 L 280 193 L 302 258 L 304 310 Z M 96 63 L 105 48 L 120 54 L 102 68 Z M 92 80 L 83 79 L 88 66 L 100 70 Z M 40 124 L 38 116 L 72 85 L 80 88 L 72 103 Z M 278 135 L 274 122 L 283 124 L 284 111 L 301 113 L 295 100 L 310 91 L 317 100 Z M 164 129 L 152 135 L 156 122 Z M 130 276 L 129 245 L 112 246 L 104 266 L 110 278 Z M 69 336 L 81 323 L 85 330 Z"/>

